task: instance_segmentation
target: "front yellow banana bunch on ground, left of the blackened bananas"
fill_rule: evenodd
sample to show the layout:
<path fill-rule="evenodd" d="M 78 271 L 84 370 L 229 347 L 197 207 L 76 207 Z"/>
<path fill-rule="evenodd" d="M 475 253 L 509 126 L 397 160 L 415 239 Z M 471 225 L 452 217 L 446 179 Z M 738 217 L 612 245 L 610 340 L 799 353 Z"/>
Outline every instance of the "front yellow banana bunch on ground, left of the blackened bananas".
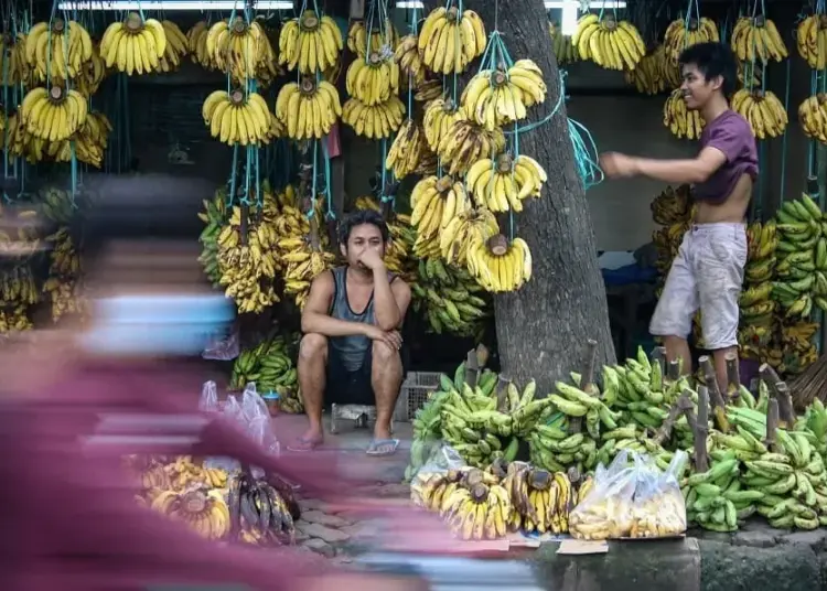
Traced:
<path fill-rule="evenodd" d="M 219 490 L 163 491 L 151 506 L 207 539 L 223 539 L 230 533 L 229 509 Z"/>

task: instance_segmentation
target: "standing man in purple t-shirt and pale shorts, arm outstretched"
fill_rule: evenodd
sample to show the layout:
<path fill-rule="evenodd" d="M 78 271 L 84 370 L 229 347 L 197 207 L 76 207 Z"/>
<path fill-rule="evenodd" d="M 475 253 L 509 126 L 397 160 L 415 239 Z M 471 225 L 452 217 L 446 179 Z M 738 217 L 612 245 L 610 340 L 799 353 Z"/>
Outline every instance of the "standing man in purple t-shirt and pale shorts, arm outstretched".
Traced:
<path fill-rule="evenodd" d="M 738 351 L 738 300 L 747 264 L 744 216 L 758 176 L 758 150 L 750 123 L 729 107 L 737 82 L 729 46 L 691 45 L 679 64 L 686 106 L 699 110 L 706 121 L 698 155 L 653 160 L 608 152 L 600 163 L 609 178 L 642 174 L 694 185 L 697 213 L 672 264 L 649 332 L 664 337 L 668 358 L 683 359 L 689 373 L 687 337 L 700 309 L 704 342 L 713 352 L 718 383 L 724 387 L 724 358 Z"/>

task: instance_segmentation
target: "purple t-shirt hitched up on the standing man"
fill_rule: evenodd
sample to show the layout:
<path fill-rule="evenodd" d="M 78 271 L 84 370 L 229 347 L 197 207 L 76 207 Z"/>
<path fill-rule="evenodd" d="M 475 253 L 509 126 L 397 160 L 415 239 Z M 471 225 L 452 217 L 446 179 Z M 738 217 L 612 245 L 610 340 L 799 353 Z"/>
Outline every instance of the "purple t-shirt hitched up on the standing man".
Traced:
<path fill-rule="evenodd" d="M 727 162 L 702 183 L 695 185 L 695 198 L 720 204 L 732 194 L 738 180 L 758 176 L 758 148 L 750 123 L 733 110 L 726 110 L 709 121 L 700 135 L 700 149 L 712 147 Z"/>

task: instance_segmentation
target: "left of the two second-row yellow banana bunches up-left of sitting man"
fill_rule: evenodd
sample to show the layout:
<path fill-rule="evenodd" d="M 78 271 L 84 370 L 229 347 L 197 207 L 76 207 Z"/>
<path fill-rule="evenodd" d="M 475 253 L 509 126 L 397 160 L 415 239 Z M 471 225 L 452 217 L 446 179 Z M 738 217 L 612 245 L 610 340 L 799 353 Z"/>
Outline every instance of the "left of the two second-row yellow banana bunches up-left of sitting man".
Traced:
<path fill-rule="evenodd" d="M 270 136 L 272 114 L 258 93 L 214 90 L 201 108 L 210 133 L 223 143 L 257 144 Z"/>

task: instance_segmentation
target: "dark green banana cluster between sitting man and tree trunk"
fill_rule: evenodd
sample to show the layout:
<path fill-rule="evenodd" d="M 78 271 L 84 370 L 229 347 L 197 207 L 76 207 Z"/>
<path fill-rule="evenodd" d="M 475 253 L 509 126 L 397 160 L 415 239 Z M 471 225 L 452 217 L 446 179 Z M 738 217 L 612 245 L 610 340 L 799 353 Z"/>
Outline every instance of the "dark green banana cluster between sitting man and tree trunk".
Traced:
<path fill-rule="evenodd" d="M 439 258 L 420 259 L 411 291 L 414 310 L 425 315 L 433 332 L 482 339 L 491 300 L 468 270 Z"/>

